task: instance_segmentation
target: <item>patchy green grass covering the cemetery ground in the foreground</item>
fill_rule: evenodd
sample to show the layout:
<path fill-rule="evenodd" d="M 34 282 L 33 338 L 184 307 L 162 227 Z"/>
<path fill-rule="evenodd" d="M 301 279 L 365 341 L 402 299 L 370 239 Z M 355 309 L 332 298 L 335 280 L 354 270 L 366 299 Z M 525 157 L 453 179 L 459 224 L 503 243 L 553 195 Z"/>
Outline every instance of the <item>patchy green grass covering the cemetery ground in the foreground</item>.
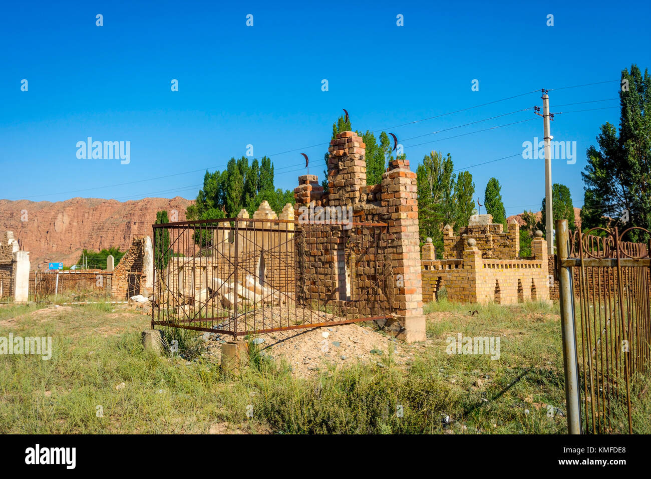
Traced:
<path fill-rule="evenodd" d="M 115 305 L 3 306 L 0 336 L 50 335 L 53 356 L 0 358 L 0 433 L 206 433 L 225 424 L 247 433 L 566 433 L 566 418 L 544 406 L 565 411 L 557 306 L 441 300 L 427 310 L 428 340 L 401 347 L 407 364 L 389 355 L 384 368 L 353 363 L 298 379 L 253 343 L 243 375 L 223 375 L 189 330 L 165 330 L 179 351 L 156 356 L 140 339 L 150 319 Z M 458 332 L 500 336 L 499 359 L 448 355 Z M 648 428 L 643 404 L 636 417 Z"/>

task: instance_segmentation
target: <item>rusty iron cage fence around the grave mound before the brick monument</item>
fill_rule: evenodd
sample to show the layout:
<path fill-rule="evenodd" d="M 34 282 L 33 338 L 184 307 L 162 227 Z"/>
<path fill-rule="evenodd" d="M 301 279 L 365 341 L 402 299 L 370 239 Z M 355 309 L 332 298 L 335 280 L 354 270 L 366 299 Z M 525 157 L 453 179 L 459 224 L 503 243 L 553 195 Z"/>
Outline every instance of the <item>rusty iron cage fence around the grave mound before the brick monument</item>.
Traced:
<path fill-rule="evenodd" d="M 152 327 L 232 334 L 391 318 L 386 224 L 156 224 Z"/>

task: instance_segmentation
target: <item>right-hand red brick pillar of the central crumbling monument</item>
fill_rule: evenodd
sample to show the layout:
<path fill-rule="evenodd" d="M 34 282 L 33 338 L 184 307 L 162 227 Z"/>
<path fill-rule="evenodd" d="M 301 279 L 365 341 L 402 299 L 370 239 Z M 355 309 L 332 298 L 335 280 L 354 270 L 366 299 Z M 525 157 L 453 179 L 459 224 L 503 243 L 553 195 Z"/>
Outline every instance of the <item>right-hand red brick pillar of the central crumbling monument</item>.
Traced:
<path fill-rule="evenodd" d="M 393 306 L 403 328 L 398 337 L 408 342 L 424 341 L 416 173 L 409 170 L 408 160 L 389 163 L 381 188 L 382 216 L 389 225 L 387 251 L 396 276 Z"/>

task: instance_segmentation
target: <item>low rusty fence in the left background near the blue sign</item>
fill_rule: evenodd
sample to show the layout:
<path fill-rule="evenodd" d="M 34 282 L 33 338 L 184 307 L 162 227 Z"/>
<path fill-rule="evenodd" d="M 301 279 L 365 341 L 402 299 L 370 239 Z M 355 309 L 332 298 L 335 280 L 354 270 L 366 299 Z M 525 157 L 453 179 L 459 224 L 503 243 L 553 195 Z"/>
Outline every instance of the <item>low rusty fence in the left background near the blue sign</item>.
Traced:
<path fill-rule="evenodd" d="M 29 273 L 29 295 L 44 301 L 55 295 L 74 300 L 111 296 L 113 273 L 106 270 L 35 271 Z"/>

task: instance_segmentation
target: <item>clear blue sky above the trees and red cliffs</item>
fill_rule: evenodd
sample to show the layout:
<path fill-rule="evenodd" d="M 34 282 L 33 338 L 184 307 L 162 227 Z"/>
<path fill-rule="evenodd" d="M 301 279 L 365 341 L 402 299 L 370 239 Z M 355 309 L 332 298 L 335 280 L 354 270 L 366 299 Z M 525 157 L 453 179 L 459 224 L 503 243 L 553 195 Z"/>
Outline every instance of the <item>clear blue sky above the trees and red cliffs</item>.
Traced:
<path fill-rule="evenodd" d="M 6 2 L 0 198 L 194 199 L 205 169 L 223 168 L 247 144 L 257 158 L 273 155 L 277 186 L 293 189 L 305 173 L 300 152 L 322 179 L 327 146 L 312 145 L 329 141 L 342 108 L 355 130 L 395 133 L 412 169 L 434 149 L 452 154 L 457 169 L 521 154 L 523 141 L 542 139 L 542 118 L 449 137 L 531 119 L 531 109 L 408 138 L 540 106 L 540 93 L 396 126 L 543 87 L 559 89 L 549 93 L 553 112 L 617 106 L 561 105 L 616 98 L 622 68 L 651 66 L 650 5 Z M 471 91 L 474 79 L 479 91 Z M 562 89 L 602 81 L 610 83 Z M 618 119 L 608 108 L 557 115 L 551 124 L 555 139 L 577 142 L 576 164 L 553 162 L 553 181 L 570 187 L 575 206 L 583 203 L 585 151 L 602 123 Z M 89 136 L 130 141 L 130 164 L 77 159 L 77 141 Z M 543 164 L 519 156 L 471 167 L 475 196 L 483 199 L 494 176 L 507 214 L 538 210 Z M 153 179 L 165 175 L 176 176 Z M 140 180 L 147 181 L 100 188 Z"/>

